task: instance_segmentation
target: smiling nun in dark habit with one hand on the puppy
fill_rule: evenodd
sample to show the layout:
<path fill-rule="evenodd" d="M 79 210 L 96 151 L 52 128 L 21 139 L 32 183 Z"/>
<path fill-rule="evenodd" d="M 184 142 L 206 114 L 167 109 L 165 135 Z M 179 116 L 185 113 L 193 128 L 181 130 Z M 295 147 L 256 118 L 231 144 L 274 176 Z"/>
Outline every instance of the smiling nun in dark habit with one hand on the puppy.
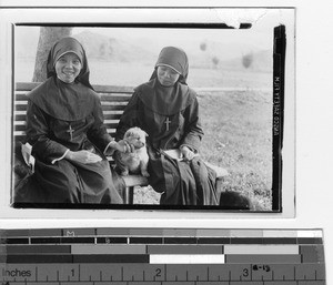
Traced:
<path fill-rule="evenodd" d="M 105 154 L 130 152 L 131 146 L 115 142 L 103 125 L 79 41 L 63 38 L 53 45 L 47 77 L 28 94 L 27 138 L 40 189 L 29 202 L 121 204 Z"/>

